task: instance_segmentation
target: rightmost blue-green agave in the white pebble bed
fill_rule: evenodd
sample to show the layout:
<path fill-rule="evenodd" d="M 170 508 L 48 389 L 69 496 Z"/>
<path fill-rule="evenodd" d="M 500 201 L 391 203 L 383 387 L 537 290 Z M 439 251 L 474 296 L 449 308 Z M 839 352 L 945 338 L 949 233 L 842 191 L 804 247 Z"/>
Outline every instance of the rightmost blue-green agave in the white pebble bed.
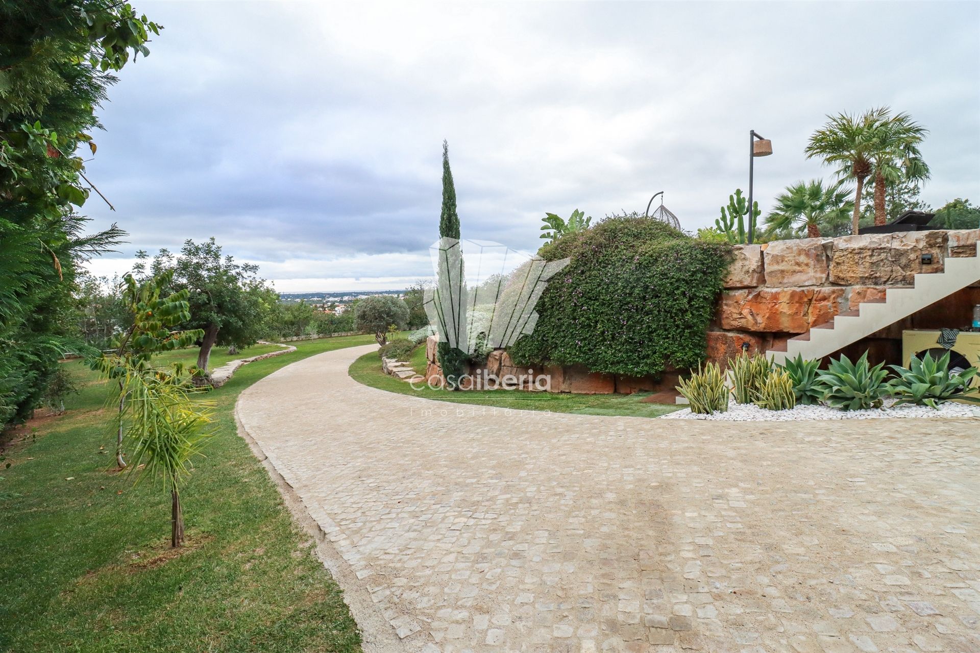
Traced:
<path fill-rule="evenodd" d="M 970 382 L 977 374 L 976 368 L 962 372 L 950 371 L 950 352 L 936 360 L 929 352 L 921 359 L 912 356 L 909 368 L 890 366 L 897 378 L 888 385 L 892 394 L 898 398 L 895 405 L 914 404 L 939 408 L 950 399 L 962 399 L 980 403 L 980 398 L 966 396 Z"/>

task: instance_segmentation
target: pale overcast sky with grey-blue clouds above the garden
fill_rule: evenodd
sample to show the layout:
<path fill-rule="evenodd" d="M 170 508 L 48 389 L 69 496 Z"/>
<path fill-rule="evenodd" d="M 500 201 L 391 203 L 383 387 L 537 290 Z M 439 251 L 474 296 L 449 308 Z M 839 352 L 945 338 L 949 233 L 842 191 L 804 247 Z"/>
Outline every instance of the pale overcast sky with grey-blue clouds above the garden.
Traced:
<path fill-rule="evenodd" d="M 825 115 L 890 105 L 930 129 L 923 198 L 980 201 L 980 3 L 147 2 L 165 26 L 120 75 L 88 176 L 137 249 L 216 236 L 280 291 L 431 274 L 442 139 L 465 238 L 535 250 L 545 212 L 694 231 L 798 179 Z"/>

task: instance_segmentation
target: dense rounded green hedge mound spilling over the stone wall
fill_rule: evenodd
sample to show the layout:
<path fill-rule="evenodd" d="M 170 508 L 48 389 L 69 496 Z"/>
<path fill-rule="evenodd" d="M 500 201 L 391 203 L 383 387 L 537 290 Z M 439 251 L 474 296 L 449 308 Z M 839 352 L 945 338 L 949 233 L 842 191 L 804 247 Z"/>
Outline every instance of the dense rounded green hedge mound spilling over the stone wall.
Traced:
<path fill-rule="evenodd" d="M 697 366 L 731 251 L 636 214 L 564 235 L 539 254 L 571 261 L 548 283 L 534 332 L 511 356 L 634 377 Z"/>

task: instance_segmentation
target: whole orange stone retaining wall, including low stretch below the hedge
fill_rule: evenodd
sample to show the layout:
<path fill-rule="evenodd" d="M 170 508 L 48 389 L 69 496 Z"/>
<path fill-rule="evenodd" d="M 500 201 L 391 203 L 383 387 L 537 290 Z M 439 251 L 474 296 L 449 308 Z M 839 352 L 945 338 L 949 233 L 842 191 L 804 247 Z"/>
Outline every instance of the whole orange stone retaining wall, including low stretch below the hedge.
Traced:
<path fill-rule="evenodd" d="M 861 302 L 884 299 L 887 288 L 911 285 L 916 274 L 943 272 L 947 257 L 976 256 L 978 238 L 980 229 L 963 229 L 736 245 L 715 319 L 707 333 L 708 359 L 725 365 L 742 351 L 743 344 L 750 352 L 764 352 L 837 315 L 858 310 Z M 931 262 L 923 262 L 923 255 L 929 255 Z M 980 283 L 845 351 L 859 355 L 870 349 L 880 360 L 899 363 L 903 329 L 968 325 L 976 303 L 980 303 Z M 429 336 L 426 379 L 441 376 L 435 343 L 435 336 Z M 504 350 L 492 352 L 486 364 L 470 374 L 481 374 L 483 370 L 496 377 L 528 374 L 527 368 L 516 367 Z M 672 390 L 677 384 L 674 371 L 660 378 L 620 377 L 580 367 L 546 366 L 534 374 L 549 375 L 553 392 L 628 394 Z M 525 387 L 535 389 L 530 384 Z"/>

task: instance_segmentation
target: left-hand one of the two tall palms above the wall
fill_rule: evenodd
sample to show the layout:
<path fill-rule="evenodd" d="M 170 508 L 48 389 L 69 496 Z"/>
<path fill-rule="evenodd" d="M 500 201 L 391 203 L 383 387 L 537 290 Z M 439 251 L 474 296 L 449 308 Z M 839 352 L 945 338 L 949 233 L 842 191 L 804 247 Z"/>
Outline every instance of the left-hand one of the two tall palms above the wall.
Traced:
<path fill-rule="evenodd" d="M 878 117 L 881 111 L 873 109 L 860 117 L 850 114 L 828 116 L 830 121 L 813 132 L 804 150 L 808 159 L 820 157 L 824 165 L 836 166 L 837 175 L 841 178 L 854 178 L 857 181 L 854 214 L 851 218 L 852 233 L 858 233 L 860 194 L 864 179 L 872 172 L 871 161 L 876 149 L 875 129 L 881 120 Z"/>

